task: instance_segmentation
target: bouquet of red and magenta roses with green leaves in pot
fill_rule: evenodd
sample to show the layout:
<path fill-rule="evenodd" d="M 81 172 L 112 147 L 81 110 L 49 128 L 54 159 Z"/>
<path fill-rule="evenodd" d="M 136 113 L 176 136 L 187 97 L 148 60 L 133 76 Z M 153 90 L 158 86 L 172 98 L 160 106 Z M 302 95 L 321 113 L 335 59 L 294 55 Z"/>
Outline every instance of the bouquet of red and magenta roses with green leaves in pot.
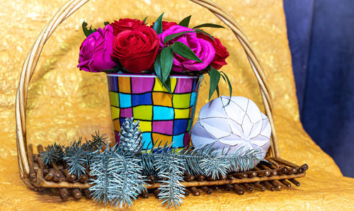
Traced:
<path fill-rule="evenodd" d="M 180 23 L 162 21 L 162 13 L 152 24 L 145 18 L 124 18 L 105 27 L 82 28 L 86 39 L 79 54 L 79 67 L 86 72 L 127 72 L 131 74 L 156 74 L 163 86 L 171 93 L 170 74 L 210 75 L 210 92 L 219 95 L 220 76 L 232 86 L 224 72 L 229 57 L 226 47 L 218 38 L 200 28 L 224 28 L 222 25 L 204 23 L 188 28 L 190 16 Z"/>

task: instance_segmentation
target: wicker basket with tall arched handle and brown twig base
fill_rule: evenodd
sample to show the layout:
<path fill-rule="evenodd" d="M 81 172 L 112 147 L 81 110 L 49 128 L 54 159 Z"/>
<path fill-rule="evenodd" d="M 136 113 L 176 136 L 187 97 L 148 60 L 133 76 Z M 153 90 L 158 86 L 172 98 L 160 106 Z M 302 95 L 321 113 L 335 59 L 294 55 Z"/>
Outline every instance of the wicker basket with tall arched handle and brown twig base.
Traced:
<path fill-rule="evenodd" d="M 25 62 L 23 64 L 23 69 L 21 71 L 21 78 L 18 83 L 18 89 L 16 93 L 16 135 L 17 135 L 17 152 L 18 152 L 18 168 L 20 172 L 21 179 L 23 182 L 33 190 L 40 190 L 42 188 L 59 188 L 59 190 L 64 190 L 65 188 L 89 188 L 89 183 L 87 180 L 67 182 L 67 181 L 46 181 L 43 177 L 43 168 L 41 168 L 40 162 L 38 162 L 38 154 L 33 154 L 32 145 L 28 145 L 26 141 L 26 101 L 28 96 L 28 85 L 30 79 L 35 72 L 36 64 L 42 52 L 45 42 L 50 38 L 50 35 L 54 32 L 57 26 L 62 23 L 66 18 L 72 15 L 77 9 L 83 6 L 89 0 L 70 0 L 67 4 L 64 4 L 62 8 L 57 11 L 55 16 L 45 25 L 42 33 L 38 36 L 33 47 L 28 52 Z M 285 179 L 292 181 L 292 178 L 298 178 L 305 175 L 304 171 L 307 170 L 307 165 L 297 166 L 288 161 L 280 159 L 280 152 L 278 148 L 278 139 L 275 133 L 275 127 L 273 122 L 272 114 L 272 102 L 270 97 L 270 90 L 268 83 L 265 79 L 265 74 L 263 73 L 260 59 L 256 55 L 255 50 L 251 46 L 251 43 L 246 38 L 246 34 L 241 29 L 238 23 L 234 21 L 234 18 L 224 10 L 221 6 L 215 4 L 210 0 L 191 0 L 195 4 L 199 4 L 212 13 L 215 14 L 221 21 L 223 21 L 234 33 L 236 38 L 241 43 L 242 47 L 246 52 L 249 59 L 251 67 L 254 74 L 258 80 L 258 84 L 261 89 L 261 96 L 263 98 L 263 104 L 265 108 L 265 114 L 268 116 L 271 129 L 271 145 L 268 151 L 268 161 L 270 161 L 270 166 L 265 166 L 265 164 L 260 164 L 263 166 L 257 166 L 253 171 L 246 173 L 233 174 L 228 178 L 222 178 L 217 181 L 210 181 L 207 178 L 195 178 L 195 180 L 185 180 L 183 185 L 186 187 L 195 186 L 212 186 L 212 185 L 227 185 L 235 184 L 234 190 L 236 191 L 236 183 L 258 183 L 260 181 L 280 181 L 281 183 L 286 182 Z M 38 146 L 40 150 L 42 146 Z M 273 157 L 273 158 L 269 158 Z M 55 166 L 53 166 L 55 167 Z M 290 169 L 290 171 L 288 171 Z M 286 170 L 286 171 L 285 171 Z M 267 173 L 270 172 L 270 173 Z M 272 173 L 273 172 L 273 173 Z M 286 173 L 290 172 L 290 173 Z M 258 176 L 256 176 L 258 174 Z M 298 185 L 296 181 L 292 181 L 295 185 Z M 270 183 L 268 183 L 270 184 Z M 268 184 L 264 185 L 268 188 Z M 289 187 L 287 183 L 283 183 L 285 186 Z M 276 184 L 273 184 L 275 188 L 278 188 Z M 159 183 L 153 183 L 149 188 L 158 188 Z M 236 187 L 236 189 L 235 189 Z M 237 192 L 237 191 L 236 191 Z M 239 193 L 239 192 L 237 192 Z"/>

